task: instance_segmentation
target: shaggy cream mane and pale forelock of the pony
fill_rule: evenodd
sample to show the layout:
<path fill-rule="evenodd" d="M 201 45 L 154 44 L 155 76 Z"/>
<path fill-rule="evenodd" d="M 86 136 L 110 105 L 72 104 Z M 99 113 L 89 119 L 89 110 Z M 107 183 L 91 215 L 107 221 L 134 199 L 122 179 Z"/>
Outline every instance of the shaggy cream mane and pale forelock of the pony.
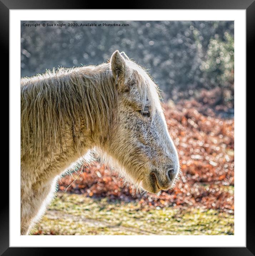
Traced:
<path fill-rule="evenodd" d="M 156 85 L 139 65 L 132 61 L 127 65 L 135 70 L 142 102 L 149 99 L 153 107 L 159 98 Z M 32 156 L 36 152 L 45 157 L 56 147 L 60 154 L 69 130 L 79 149 L 81 128 L 103 142 L 116 124 L 117 108 L 116 82 L 109 63 L 46 70 L 21 78 L 21 155 L 29 150 Z"/>

